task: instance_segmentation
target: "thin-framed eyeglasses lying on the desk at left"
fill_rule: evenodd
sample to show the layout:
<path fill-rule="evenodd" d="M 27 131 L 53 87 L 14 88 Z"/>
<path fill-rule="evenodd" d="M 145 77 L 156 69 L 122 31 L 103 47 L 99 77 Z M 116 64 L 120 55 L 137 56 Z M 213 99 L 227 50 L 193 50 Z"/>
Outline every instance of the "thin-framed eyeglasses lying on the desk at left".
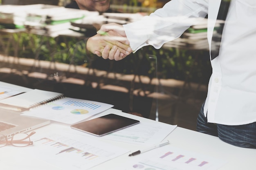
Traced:
<path fill-rule="evenodd" d="M 0 148 L 12 145 L 17 147 L 25 147 L 33 145 L 33 141 L 30 140 L 30 137 L 36 132 L 31 132 L 29 135 L 27 133 L 17 133 L 11 137 L 11 140 L 8 140 L 5 135 L 0 134 Z"/>

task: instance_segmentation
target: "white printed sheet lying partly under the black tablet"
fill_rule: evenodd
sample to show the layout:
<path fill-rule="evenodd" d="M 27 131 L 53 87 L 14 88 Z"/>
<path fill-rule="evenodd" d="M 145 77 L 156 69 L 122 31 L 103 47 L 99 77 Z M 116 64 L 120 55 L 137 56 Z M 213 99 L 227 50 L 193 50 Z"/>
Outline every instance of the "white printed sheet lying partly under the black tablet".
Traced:
<path fill-rule="evenodd" d="M 170 125 L 162 122 L 140 122 L 139 124 L 136 124 L 134 126 L 105 135 L 101 137 L 101 139 L 150 146 L 161 142 L 176 127 L 177 125 Z M 92 135 L 88 135 L 84 132 L 79 132 L 73 129 L 70 129 L 69 131 L 67 131 L 67 133 L 93 137 Z"/>

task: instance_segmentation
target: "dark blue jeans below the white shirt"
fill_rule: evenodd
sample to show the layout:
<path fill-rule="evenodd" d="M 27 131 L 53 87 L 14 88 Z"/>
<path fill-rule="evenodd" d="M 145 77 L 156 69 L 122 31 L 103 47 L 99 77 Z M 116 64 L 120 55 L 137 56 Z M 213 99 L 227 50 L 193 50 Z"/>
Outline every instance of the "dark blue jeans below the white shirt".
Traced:
<path fill-rule="evenodd" d="M 256 148 L 256 122 L 238 126 L 228 126 L 207 122 L 203 113 L 204 104 L 198 115 L 196 130 L 217 136 L 228 144 L 243 148 Z"/>

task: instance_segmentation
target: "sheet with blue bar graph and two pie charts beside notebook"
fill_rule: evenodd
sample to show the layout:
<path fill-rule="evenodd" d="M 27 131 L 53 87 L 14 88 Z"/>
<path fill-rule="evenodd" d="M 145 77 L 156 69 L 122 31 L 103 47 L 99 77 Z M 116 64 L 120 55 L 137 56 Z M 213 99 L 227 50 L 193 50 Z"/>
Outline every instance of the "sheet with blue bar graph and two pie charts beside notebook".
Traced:
<path fill-rule="evenodd" d="M 22 115 L 74 124 L 101 113 L 113 105 L 90 100 L 64 97 L 23 112 Z"/>

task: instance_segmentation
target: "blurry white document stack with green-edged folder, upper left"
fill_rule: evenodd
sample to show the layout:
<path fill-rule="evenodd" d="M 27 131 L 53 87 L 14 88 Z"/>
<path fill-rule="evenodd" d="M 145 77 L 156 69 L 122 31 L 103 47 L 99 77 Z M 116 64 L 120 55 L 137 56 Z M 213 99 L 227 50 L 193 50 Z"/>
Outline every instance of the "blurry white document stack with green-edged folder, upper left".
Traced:
<path fill-rule="evenodd" d="M 82 20 L 87 11 L 64 7 L 37 9 L 27 13 L 25 28 L 29 33 L 58 36 L 71 28 L 71 22 Z"/>

